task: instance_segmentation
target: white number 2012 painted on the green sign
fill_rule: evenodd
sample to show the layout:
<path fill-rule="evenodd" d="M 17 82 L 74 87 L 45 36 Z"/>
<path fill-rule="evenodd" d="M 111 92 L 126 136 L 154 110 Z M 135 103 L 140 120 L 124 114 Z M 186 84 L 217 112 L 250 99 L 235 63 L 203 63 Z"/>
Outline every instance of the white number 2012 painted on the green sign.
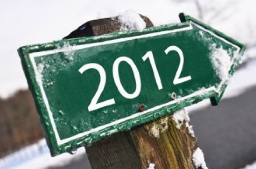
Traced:
<path fill-rule="evenodd" d="M 179 84 L 179 83 L 191 80 L 190 75 L 183 77 L 183 78 L 179 78 L 180 73 L 182 71 L 183 64 L 184 64 L 184 55 L 183 55 L 182 51 L 180 50 L 180 48 L 176 47 L 176 46 L 167 47 L 165 49 L 165 54 L 168 54 L 170 51 L 176 51 L 179 54 L 179 58 L 180 58 L 179 67 L 178 67 L 178 70 L 173 79 L 173 84 Z M 163 88 L 163 86 L 161 83 L 160 76 L 158 74 L 158 70 L 157 70 L 157 67 L 156 67 L 156 64 L 154 61 L 154 56 L 152 54 L 152 51 L 148 51 L 142 57 L 143 61 L 146 61 L 147 58 L 150 61 L 156 84 L 158 86 L 158 89 L 160 90 Z M 132 68 L 134 77 L 135 77 L 136 89 L 132 94 L 127 93 L 125 91 L 125 89 L 123 88 L 123 85 L 120 81 L 120 78 L 119 78 L 118 67 L 119 67 L 120 62 L 122 62 L 122 61 L 125 61 L 130 65 L 130 67 Z M 111 98 L 109 100 L 102 101 L 102 102 L 98 103 L 98 99 L 100 98 L 100 95 L 102 94 L 102 91 L 106 84 L 106 73 L 105 73 L 104 68 L 102 68 L 102 66 L 97 63 L 88 63 L 88 64 L 85 64 L 84 66 L 82 66 L 79 69 L 79 72 L 82 74 L 82 73 L 84 73 L 84 71 L 86 71 L 88 69 L 96 69 L 100 74 L 100 83 L 98 86 L 98 90 L 96 91 L 94 97 L 91 100 L 91 103 L 88 106 L 88 111 L 90 112 L 93 110 L 97 110 L 98 108 L 103 108 L 103 107 L 115 104 L 116 102 L 115 102 L 114 98 Z M 127 99 L 133 99 L 133 98 L 136 98 L 140 94 L 140 90 L 141 90 L 140 74 L 139 74 L 139 71 L 138 71 L 136 65 L 129 57 L 121 56 L 116 59 L 116 61 L 113 64 L 113 77 L 114 77 L 114 81 L 116 83 L 116 87 L 117 87 L 118 91 L 120 92 L 120 94 L 123 95 L 123 97 L 125 97 Z"/>

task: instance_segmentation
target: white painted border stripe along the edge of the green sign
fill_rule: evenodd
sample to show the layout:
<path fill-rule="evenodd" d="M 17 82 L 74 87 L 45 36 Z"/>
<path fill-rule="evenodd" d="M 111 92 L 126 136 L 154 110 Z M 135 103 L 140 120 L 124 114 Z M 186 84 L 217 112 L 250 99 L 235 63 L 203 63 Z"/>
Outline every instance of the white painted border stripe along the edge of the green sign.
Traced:
<path fill-rule="evenodd" d="M 123 42 L 123 41 L 131 41 L 131 40 L 135 40 L 135 39 L 141 39 L 141 38 L 146 38 L 146 37 L 154 37 L 154 36 L 158 36 L 158 35 L 163 35 L 163 34 L 170 34 L 170 33 L 175 33 L 175 32 L 179 32 L 179 31 L 184 31 L 184 30 L 191 30 L 193 29 L 192 27 L 192 24 L 194 24 L 196 27 L 199 27 L 200 29 L 208 32 L 209 34 L 221 39 L 222 41 L 228 43 L 228 44 L 231 44 L 229 41 L 226 41 L 225 39 L 223 39 L 222 37 L 214 34 L 213 32 L 211 32 L 210 30 L 207 30 L 205 29 L 204 27 L 201 27 L 200 25 L 194 23 L 193 21 L 190 21 L 189 23 L 189 27 L 182 27 L 182 28 L 179 28 L 179 29 L 175 29 L 175 30 L 165 30 L 165 31 L 162 31 L 162 32 L 155 32 L 155 33 L 150 33 L 150 34 L 144 34 L 144 35 L 137 35 L 137 36 L 133 36 L 133 37 L 124 37 L 124 38 L 120 38 L 120 39 L 114 39 L 114 40 L 109 40 L 109 41 L 103 41 L 103 42 L 95 42 L 95 43 L 90 43 L 90 44 L 83 44 L 83 45 L 78 45 L 78 46 L 72 46 L 72 50 L 78 50 L 78 49 L 84 49 L 84 48 L 88 48 L 88 47 L 95 47 L 95 46 L 101 46 L 101 45 L 105 45 L 105 44 L 113 44 L 113 43 L 118 43 L 118 42 Z M 235 46 L 234 44 L 231 44 L 232 46 Z M 237 46 L 235 46 L 237 47 Z M 240 47 L 237 47 L 239 51 L 240 50 Z M 36 53 L 31 53 L 29 54 L 29 57 L 30 57 L 30 60 L 32 62 L 32 67 L 35 71 L 35 76 L 36 76 L 36 79 L 38 81 L 38 84 L 39 84 L 39 88 L 41 90 L 41 93 L 42 93 L 42 97 L 43 97 L 43 100 L 45 101 L 45 104 L 46 104 L 46 109 L 47 109 L 47 112 L 49 114 L 49 118 L 50 118 L 50 121 L 51 121 L 51 124 L 53 126 L 53 132 L 56 136 L 56 141 L 58 143 L 58 145 L 62 145 L 66 142 L 70 142 L 74 139 L 78 139 L 84 135 L 88 135 L 92 132 L 97 132 L 99 130 L 102 130 L 104 128 L 107 128 L 107 127 L 110 127 L 112 125 L 116 125 L 116 124 L 119 124 L 121 122 L 125 122 L 129 119 L 132 119 L 132 118 L 135 118 L 135 117 L 138 117 L 138 116 L 141 116 L 141 115 L 144 115 L 144 114 L 147 114 L 148 112 L 152 112 L 152 111 L 155 111 L 159 108 L 163 108 L 165 106 L 168 106 L 168 105 L 172 105 L 174 103 L 177 103 L 179 101 L 183 101 L 183 100 L 186 100 L 187 98 L 191 98 L 193 96 L 196 96 L 196 95 L 201 95 L 201 91 L 196 91 L 190 95 L 187 95 L 187 96 L 184 96 L 182 98 L 179 98 L 179 99 L 175 99 L 173 101 L 169 101 L 167 103 L 164 103 L 162 105 L 158 105 L 154 108 L 150 108 L 150 109 L 147 109 L 145 110 L 144 112 L 141 112 L 141 113 L 137 113 L 137 114 L 134 114 L 134 115 L 130 115 L 126 118 L 121 118 L 115 122 L 111 122 L 111 123 L 108 123 L 106 125 L 102 125 L 100 127 L 97 127 L 97 128 L 93 128 L 89 131 L 86 131 L 86 132 L 83 132 L 83 133 L 80 133 L 80 134 L 77 134 L 77 135 L 74 135 L 74 136 L 71 136 L 67 139 L 63 139 L 63 140 L 60 140 L 60 135 L 57 131 L 57 128 L 56 128 L 56 125 L 55 125 L 55 122 L 54 122 L 54 119 L 53 119 L 53 113 L 51 112 L 50 110 L 50 107 L 49 107 L 49 103 L 48 103 L 48 100 L 47 100 L 47 97 L 46 97 L 46 93 L 44 91 L 44 88 L 42 86 L 42 81 L 40 81 L 40 74 L 39 72 L 37 71 L 37 67 L 36 67 L 36 64 L 35 64 L 35 60 L 34 60 L 34 57 L 38 57 L 38 56 L 42 56 L 42 55 L 47 55 L 47 54 L 55 54 L 55 53 L 59 53 L 59 52 L 66 52 L 66 51 L 69 51 L 69 49 L 58 49 L 58 50 L 49 50 L 49 51 L 41 51 L 41 52 L 36 52 Z M 221 83 L 222 84 L 222 83 Z M 210 87 L 210 88 L 207 88 L 207 89 L 204 89 L 206 91 L 215 91 L 216 93 L 219 93 L 219 90 L 220 90 L 220 87 L 221 85 L 219 85 L 219 88 L 216 89 L 215 87 Z"/>

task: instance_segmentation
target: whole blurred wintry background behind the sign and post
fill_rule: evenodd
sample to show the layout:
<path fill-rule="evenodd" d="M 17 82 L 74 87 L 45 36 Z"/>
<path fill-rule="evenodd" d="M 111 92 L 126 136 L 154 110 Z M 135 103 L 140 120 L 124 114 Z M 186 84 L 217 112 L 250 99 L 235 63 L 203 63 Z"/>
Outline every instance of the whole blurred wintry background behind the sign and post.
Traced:
<path fill-rule="evenodd" d="M 256 169 L 255 7 L 255 0 L 1 0 L 0 168 L 90 169 L 84 148 L 50 156 L 17 49 L 133 9 L 155 26 L 177 23 L 184 12 L 246 45 L 220 105 L 206 100 L 187 109 L 208 168 Z"/>

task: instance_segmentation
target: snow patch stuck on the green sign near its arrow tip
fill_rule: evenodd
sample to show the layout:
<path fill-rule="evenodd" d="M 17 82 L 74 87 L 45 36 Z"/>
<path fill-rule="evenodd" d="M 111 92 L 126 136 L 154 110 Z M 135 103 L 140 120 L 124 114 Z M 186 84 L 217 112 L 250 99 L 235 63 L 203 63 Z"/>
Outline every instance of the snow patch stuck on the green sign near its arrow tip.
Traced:
<path fill-rule="evenodd" d="M 228 81 L 228 71 L 232 64 L 228 51 L 222 48 L 215 48 L 211 54 L 211 60 L 221 81 Z"/>

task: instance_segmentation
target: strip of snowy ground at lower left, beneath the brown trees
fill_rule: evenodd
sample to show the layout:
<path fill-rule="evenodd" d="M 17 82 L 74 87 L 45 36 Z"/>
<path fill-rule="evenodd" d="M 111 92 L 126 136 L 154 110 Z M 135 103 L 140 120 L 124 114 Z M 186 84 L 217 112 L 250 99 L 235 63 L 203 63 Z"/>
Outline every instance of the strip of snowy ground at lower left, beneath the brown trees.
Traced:
<path fill-rule="evenodd" d="M 74 155 L 64 153 L 52 157 L 46 145 L 46 140 L 25 147 L 17 152 L 0 159 L 1 169 L 45 169 L 48 167 L 62 167 L 71 161 L 79 160 L 86 154 L 84 148 L 77 149 Z"/>

